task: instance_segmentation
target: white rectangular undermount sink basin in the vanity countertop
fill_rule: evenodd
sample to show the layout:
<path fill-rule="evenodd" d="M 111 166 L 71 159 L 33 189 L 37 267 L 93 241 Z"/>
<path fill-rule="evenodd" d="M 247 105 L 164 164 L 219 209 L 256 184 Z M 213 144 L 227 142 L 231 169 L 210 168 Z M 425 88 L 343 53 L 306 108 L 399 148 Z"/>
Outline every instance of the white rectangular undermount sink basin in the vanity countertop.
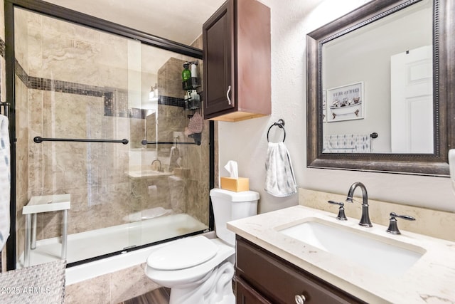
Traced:
<path fill-rule="evenodd" d="M 278 230 L 334 256 L 389 276 L 405 273 L 425 253 L 418 246 L 317 218 Z"/>

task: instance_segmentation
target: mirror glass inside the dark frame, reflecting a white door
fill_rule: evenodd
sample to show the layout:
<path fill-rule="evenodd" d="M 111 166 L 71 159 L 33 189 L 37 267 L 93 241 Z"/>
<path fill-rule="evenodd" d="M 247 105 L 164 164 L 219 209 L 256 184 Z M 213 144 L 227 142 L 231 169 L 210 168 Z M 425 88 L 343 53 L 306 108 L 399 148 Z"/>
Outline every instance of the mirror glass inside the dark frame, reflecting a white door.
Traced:
<path fill-rule="evenodd" d="M 433 154 L 433 1 L 326 40 L 322 152 Z"/>

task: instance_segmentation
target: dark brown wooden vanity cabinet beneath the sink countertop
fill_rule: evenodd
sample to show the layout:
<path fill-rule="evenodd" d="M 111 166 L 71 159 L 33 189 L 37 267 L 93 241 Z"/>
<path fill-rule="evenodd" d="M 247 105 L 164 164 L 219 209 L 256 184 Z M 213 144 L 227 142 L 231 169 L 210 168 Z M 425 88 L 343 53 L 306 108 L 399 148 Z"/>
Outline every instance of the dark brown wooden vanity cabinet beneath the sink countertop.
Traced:
<path fill-rule="evenodd" d="M 237 304 L 365 303 L 240 236 L 236 239 Z"/>

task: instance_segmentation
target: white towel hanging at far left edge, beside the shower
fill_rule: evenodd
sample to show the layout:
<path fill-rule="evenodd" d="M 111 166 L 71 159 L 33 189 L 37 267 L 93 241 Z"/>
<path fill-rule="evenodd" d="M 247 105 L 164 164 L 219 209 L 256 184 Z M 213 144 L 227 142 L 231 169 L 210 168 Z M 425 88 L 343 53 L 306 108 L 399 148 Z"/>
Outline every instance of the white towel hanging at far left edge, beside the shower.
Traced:
<path fill-rule="evenodd" d="M 10 157 L 8 117 L 0 115 L 0 251 L 9 237 Z"/>

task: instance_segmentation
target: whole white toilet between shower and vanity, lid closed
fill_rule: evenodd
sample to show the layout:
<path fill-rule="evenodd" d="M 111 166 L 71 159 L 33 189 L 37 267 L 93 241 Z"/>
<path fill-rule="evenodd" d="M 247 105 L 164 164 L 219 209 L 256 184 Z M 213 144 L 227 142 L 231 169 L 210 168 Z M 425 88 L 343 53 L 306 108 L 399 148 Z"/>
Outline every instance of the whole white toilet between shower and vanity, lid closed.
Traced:
<path fill-rule="evenodd" d="M 235 234 L 226 222 L 257 214 L 259 193 L 210 190 L 218 239 L 194 236 L 161 246 L 147 258 L 146 276 L 171 288 L 170 304 L 234 304 Z"/>

